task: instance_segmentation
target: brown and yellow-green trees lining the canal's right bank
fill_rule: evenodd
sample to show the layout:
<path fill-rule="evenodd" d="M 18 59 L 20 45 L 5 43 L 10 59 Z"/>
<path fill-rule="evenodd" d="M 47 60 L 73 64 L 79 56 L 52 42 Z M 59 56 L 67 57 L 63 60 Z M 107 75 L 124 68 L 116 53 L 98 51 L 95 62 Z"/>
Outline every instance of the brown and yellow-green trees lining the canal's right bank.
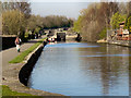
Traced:
<path fill-rule="evenodd" d="M 119 28 L 120 22 L 131 27 L 131 2 L 98 2 L 92 3 L 81 11 L 73 29 L 81 34 L 83 40 L 96 41 L 105 38 L 107 29 Z"/>

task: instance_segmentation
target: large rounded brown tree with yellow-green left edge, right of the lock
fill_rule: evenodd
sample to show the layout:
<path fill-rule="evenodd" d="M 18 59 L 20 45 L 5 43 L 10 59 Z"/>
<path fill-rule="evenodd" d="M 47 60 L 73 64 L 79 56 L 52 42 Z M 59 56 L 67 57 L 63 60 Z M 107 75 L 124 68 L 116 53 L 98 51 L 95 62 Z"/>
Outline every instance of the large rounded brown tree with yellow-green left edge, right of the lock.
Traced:
<path fill-rule="evenodd" d="M 92 3 L 81 11 L 74 29 L 81 33 L 83 40 L 96 41 L 105 37 L 106 29 L 110 27 L 110 19 L 117 11 L 117 2 Z"/>

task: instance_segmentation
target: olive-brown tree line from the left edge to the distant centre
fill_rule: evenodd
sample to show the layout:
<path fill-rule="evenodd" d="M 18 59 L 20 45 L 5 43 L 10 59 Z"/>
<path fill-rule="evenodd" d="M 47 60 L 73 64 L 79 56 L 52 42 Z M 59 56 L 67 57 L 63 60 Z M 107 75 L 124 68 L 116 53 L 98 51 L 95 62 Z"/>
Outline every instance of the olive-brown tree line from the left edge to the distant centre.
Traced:
<path fill-rule="evenodd" d="M 2 34 L 20 35 L 24 37 L 25 32 L 34 33 L 45 28 L 70 27 L 73 21 L 59 15 L 40 16 L 31 14 L 29 2 L 0 2 L 2 14 Z"/>

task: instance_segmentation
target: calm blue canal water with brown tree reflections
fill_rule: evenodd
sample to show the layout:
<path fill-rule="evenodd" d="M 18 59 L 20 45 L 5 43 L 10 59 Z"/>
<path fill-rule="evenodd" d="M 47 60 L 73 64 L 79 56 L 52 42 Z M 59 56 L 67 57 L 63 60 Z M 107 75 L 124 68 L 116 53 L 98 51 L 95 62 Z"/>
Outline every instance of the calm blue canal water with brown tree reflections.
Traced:
<path fill-rule="evenodd" d="M 47 45 L 28 86 L 66 96 L 129 96 L 129 51 L 91 42 Z"/>

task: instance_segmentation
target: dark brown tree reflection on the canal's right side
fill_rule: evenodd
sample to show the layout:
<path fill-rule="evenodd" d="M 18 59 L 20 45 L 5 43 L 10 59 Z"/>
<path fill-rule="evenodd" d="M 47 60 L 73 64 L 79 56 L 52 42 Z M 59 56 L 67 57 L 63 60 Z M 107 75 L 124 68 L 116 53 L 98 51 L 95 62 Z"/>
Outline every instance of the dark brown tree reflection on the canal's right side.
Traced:
<path fill-rule="evenodd" d="M 86 48 L 86 52 L 84 54 L 128 54 L 129 50 L 126 47 L 120 46 L 107 46 L 99 48 Z M 92 77 L 99 76 L 103 85 L 103 94 L 108 95 L 109 89 L 115 87 L 118 84 L 118 79 L 122 73 L 127 73 L 128 71 L 128 57 L 91 57 L 83 58 L 82 63 L 86 63 L 85 68 L 81 68 L 86 74 L 90 70 L 92 72 Z M 98 77 L 97 77 L 98 78 Z M 117 88 L 116 88 L 117 89 Z"/>

